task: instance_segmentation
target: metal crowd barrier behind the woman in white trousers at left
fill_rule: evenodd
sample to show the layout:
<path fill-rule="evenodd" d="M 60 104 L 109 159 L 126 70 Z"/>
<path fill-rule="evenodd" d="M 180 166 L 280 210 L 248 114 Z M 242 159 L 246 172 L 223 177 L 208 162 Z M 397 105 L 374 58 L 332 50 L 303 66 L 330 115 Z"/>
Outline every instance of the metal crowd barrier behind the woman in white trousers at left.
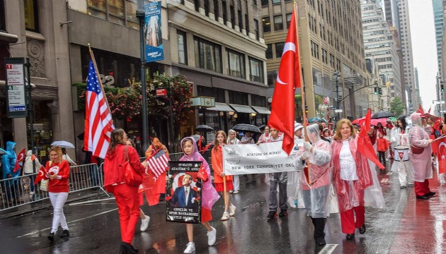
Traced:
<path fill-rule="evenodd" d="M 48 192 L 40 190 L 40 183 L 34 185 L 37 174 L 0 180 L 0 211 L 47 199 Z M 70 167 L 69 192 L 74 193 L 91 188 L 100 188 L 107 194 L 103 189 L 102 167 L 98 167 L 97 164 Z"/>

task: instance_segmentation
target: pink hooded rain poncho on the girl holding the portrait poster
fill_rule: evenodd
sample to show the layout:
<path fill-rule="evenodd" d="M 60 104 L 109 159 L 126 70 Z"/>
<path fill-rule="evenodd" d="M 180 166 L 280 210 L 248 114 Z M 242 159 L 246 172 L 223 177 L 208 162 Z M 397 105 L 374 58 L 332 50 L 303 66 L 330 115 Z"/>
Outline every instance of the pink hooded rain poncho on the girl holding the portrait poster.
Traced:
<path fill-rule="evenodd" d="M 208 210 L 212 210 L 212 206 L 219 200 L 220 196 L 218 195 L 217 191 L 215 191 L 214 186 L 212 186 L 211 182 L 211 173 L 209 164 L 207 164 L 205 158 L 203 158 L 200 155 L 200 152 L 198 152 L 197 143 L 195 143 L 195 140 L 192 137 L 183 138 L 181 140 L 181 150 L 183 150 L 183 144 L 185 141 L 190 140 L 193 144 L 193 153 L 192 155 L 186 155 L 184 154 L 183 157 L 181 157 L 180 161 L 200 161 L 202 162 L 202 165 L 206 169 L 206 173 L 209 176 L 206 181 L 202 182 L 202 197 L 201 197 L 201 205 L 202 207 L 205 207 Z M 184 150 L 183 150 L 184 153 Z"/>

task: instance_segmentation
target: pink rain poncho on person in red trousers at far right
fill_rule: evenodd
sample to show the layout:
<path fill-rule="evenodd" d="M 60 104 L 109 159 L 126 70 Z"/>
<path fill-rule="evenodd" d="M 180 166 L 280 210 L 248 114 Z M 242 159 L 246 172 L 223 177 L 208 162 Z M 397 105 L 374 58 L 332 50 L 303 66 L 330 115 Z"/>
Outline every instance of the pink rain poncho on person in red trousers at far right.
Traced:
<path fill-rule="evenodd" d="M 432 179 L 432 162 L 430 159 L 432 148 L 428 142 L 429 134 L 422 127 L 421 114 L 411 114 L 411 120 L 413 127 L 409 131 L 409 143 L 414 147 L 424 147 L 423 152 L 419 155 L 413 153 L 412 149 L 409 152 L 409 159 L 413 167 L 413 181 L 423 183 L 425 179 Z"/>

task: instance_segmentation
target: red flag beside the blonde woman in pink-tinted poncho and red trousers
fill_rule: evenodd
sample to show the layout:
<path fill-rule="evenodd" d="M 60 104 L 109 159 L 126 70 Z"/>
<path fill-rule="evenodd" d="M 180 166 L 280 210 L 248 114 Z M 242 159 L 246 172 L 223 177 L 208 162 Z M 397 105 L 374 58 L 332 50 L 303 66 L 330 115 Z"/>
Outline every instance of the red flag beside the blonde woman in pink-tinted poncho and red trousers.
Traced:
<path fill-rule="evenodd" d="M 358 151 L 370 159 L 374 164 L 377 164 L 379 169 L 385 169 L 384 165 L 379 162 L 376 152 L 374 152 L 372 142 L 367 135 L 367 132 L 370 131 L 370 121 L 372 118 L 372 111 L 370 109 L 367 111 L 367 115 L 365 116 L 364 123 L 362 123 L 362 128 L 358 137 Z"/>

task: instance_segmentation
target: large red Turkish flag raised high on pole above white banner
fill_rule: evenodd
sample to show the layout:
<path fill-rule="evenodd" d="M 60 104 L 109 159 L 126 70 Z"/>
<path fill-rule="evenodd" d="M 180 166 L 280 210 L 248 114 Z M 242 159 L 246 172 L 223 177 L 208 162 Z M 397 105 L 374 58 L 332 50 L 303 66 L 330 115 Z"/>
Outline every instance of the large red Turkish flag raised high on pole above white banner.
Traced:
<path fill-rule="evenodd" d="M 299 40 L 295 11 L 290 20 L 287 40 L 283 48 L 278 77 L 275 81 L 273 102 L 268 126 L 284 133 L 282 149 L 290 155 L 295 136 L 295 88 L 301 87 Z"/>

